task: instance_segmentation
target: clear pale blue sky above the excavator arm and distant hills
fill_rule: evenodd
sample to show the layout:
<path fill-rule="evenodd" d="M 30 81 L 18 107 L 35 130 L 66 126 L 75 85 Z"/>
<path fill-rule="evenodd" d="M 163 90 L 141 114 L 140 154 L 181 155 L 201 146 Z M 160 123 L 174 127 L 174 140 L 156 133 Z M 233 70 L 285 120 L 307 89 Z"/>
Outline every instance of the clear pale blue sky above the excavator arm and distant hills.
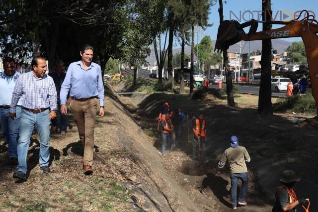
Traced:
<path fill-rule="evenodd" d="M 249 19 L 249 15 L 252 17 L 254 16 L 254 19 L 257 19 L 257 10 L 261 10 L 261 0 L 226 0 L 227 3 L 223 3 L 223 9 L 224 9 L 224 19 L 236 19 L 237 17 L 241 17 L 240 23 L 243 23 Z M 318 20 L 318 0 L 271 0 L 272 3 L 272 11 L 273 11 L 273 17 L 275 14 L 276 20 L 280 20 L 280 17 L 285 17 L 283 20 L 289 20 L 291 18 L 291 14 L 294 14 L 298 10 L 311 10 L 312 14 L 316 15 L 316 19 Z M 205 35 L 210 35 L 212 40 L 216 40 L 217 33 L 218 33 L 218 27 L 220 23 L 219 19 L 219 3 L 211 7 L 210 15 L 209 15 L 209 23 L 213 23 L 213 26 L 208 27 L 205 31 L 199 28 L 198 33 L 196 33 L 195 43 L 197 43 L 197 40 L 200 41 Z M 250 10 L 251 13 L 249 14 L 248 11 Z M 285 12 L 283 12 L 285 11 Z M 241 12 L 241 16 L 239 16 L 239 13 Z M 243 12 L 245 12 L 243 16 Z M 235 16 L 236 15 L 236 16 Z M 242 16 L 245 20 L 243 20 Z M 261 20 L 261 17 L 260 17 Z M 273 28 L 279 28 L 282 27 L 282 25 L 273 25 Z M 248 28 L 245 28 L 245 32 L 247 32 Z M 258 25 L 257 31 L 262 30 L 262 25 Z M 301 41 L 301 38 L 284 38 L 286 41 Z M 176 43 L 176 47 L 179 47 L 180 45 Z"/>

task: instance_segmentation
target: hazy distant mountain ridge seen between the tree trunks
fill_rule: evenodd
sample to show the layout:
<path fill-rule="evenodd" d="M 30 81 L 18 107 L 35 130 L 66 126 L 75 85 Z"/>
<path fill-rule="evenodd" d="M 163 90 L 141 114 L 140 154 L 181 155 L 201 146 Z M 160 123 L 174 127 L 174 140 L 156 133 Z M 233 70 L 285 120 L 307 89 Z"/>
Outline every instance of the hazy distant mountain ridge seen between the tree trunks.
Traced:
<path fill-rule="evenodd" d="M 213 40 L 213 48 L 215 47 L 215 41 Z M 242 42 L 242 46 L 241 46 L 241 53 L 248 53 L 248 42 L 246 41 L 241 41 Z M 272 39 L 272 47 L 273 49 L 277 49 L 277 52 L 279 54 L 282 54 L 288 46 L 290 46 L 292 44 L 292 42 L 286 41 L 286 40 L 282 40 L 282 39 Z M 254 40 L 254 41 L 250 41 L 249 43 L 249 49 L 250 52 L 256 51 L 258 50 L 262 50 L 262 41 L 261 40 Z M 184 46 L 184 51 L 187 54 L 191 54 L 191 46 Z M 177 53 L 177 52 L 181 52 L 181 47 L 180 48 L 175 48 L 173 49 L 173 54 Z M 236 43 L 232 46 L 230 46 L 230 48 L 228 49 L 228 52 L 237 52 L 239 53 L 239 44 Z M 156 56 L 155 56 L 155 52 L 154 49 L 152 49 L 150 56 L 146 59 L 150 64 L 154 64 L 154 62 L 156 62 Z"/>

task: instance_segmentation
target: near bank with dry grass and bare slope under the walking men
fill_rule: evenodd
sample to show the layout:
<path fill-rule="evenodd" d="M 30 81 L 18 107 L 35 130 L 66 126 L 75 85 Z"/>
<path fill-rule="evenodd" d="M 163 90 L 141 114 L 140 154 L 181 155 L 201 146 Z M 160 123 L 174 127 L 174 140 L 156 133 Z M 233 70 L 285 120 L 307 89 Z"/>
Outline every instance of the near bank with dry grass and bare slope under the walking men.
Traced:
<path fill-rule="evenodd" d="M 51 135 L 51 173 L 38 164 L 36 134 L 28 154 L 28 180 L 12 179 L 7 144 L 0 140 L 0 211 L 197 211 L 169 176 L 151 142 L 107 88 L 106 114 L 97 116 L 92 176 L 84 176 L 82 148 L 71 114 L 67 136 Z"/>

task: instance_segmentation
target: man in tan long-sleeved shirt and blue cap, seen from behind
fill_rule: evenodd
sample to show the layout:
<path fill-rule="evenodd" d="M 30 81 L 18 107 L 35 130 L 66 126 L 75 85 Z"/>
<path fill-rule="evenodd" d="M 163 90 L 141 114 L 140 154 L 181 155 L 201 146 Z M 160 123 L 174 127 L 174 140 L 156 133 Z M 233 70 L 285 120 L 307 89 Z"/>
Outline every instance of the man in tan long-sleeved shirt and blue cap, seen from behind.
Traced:
<path fill-rule="evenodd" d="M 237 209 L 237 203 L 241 206 L 247 205 L 245 197 L 248 186 L 248 172 L 245 162 L 249 162 L 250 157 L 245 147 L 239 146 L 239 139 L 235 135 L 231 137 L 231 147 L 224 151 L 219 161 L 219 168 L 223 168 L 227 161 L 231 170 L 231 205 L 233 209 Z M 237 200 L 239 179 L 242 181 L 242 188 L 239 193 L 239 200 Z"/>

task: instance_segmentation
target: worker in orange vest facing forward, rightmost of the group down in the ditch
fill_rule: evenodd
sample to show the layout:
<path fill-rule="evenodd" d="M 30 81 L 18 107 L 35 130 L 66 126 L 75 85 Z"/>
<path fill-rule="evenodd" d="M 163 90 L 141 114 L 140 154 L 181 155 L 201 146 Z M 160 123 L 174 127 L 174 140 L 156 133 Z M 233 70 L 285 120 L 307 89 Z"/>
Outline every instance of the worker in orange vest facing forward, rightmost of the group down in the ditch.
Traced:
<path fill-rule="evenodd" d="M 192 131 L 194 134 L 194 145 L 192 146 L 192 158 L 195 158 L 196 150 L 199 148 L 200 160 L 205 159 L 205 141 L 207 139 L 206 121 L 203 119 L 203 113 L 199 114 L 198 119 L 193 119 Z"/>

